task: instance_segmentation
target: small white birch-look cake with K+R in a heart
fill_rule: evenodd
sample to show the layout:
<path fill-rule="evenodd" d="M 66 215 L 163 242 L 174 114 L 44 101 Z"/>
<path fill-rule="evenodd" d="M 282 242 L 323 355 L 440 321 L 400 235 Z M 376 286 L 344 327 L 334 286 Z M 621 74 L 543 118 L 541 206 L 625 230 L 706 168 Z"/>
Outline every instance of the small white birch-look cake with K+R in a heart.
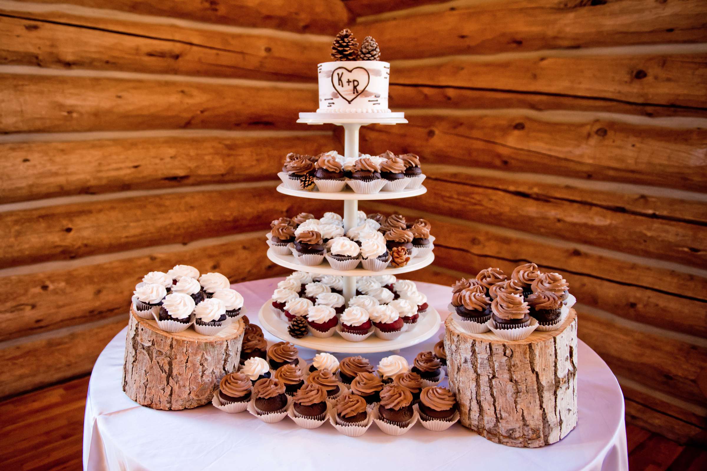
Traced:
<path fill-rule="evenodd" d="M 390 64 L 383 61 L 332 61 L 317 66 L 317 113 L 390 113 Z"/>

